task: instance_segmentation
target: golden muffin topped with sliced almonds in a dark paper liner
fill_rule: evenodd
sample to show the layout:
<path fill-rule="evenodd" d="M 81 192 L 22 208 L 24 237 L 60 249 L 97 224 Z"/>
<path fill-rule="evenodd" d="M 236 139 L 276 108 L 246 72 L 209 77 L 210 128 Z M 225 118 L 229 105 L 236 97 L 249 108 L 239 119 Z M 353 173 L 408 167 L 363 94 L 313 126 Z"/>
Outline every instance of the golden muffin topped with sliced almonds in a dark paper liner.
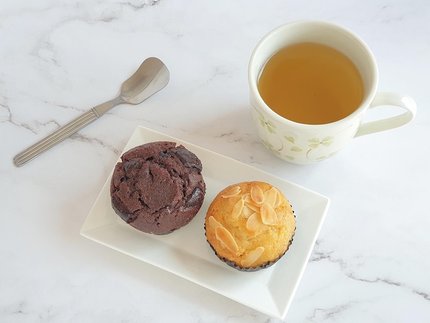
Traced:
<path fill-rule="evenodd" d="M 216 256 L 241 271 L 257 271 L 278 261 L 295 233 L 295 215 L 282 192 L 269 183 L 228 186 L 207 210 L 205 234 Z"/>

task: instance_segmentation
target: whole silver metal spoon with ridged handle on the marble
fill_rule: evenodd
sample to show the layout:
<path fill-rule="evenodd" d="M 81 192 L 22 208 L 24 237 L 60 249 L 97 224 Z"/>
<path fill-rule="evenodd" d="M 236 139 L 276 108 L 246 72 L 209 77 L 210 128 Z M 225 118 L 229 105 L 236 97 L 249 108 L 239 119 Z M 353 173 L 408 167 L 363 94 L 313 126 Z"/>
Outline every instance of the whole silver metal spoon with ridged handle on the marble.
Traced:
<path fill-rule="evenodd" d="M 30 160 L 45 153 L 49 148 L 52 148 L 58 142 L 65 140 L 73 133 L 84 128 L 94 120 L 100 118 L 104 113 L 115 107 L 117 104 L 130 103 L 139 104 L 143 102 L 152 94 L 157 93 L 159 90 L 166 87 L 169 82 L 170 74 L 166 65 L 158 58 L 150 57 L 144 60 L 144 63 L 135 71 L 128 80 L 126 80 L 121 87 L 120 93 L 108 102 L 93 107 L 93 109 L 83 113 L 78 118 L 73 119 L 65 126 L 60 127 L 51 135 L 48 135 L 40 142 L 25 149 L 14 157 L 14 164 L 16 167 L 21 167 L 27 164 Z"/>

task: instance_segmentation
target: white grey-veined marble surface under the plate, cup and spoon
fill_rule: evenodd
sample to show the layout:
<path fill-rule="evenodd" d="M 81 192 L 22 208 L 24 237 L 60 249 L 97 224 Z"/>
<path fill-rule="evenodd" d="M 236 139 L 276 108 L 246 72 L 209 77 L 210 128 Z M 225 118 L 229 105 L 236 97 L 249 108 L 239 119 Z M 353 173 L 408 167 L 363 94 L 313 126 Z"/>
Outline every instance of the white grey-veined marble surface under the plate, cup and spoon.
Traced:
<path fill-rule="evenodd" d="M 139 125 L 330 197 L 283 322 L 429 322 L 429 16 L 427 0 L 1 1 L 0 322 L 282 321 L 80 236 Z M 297 166 L 258 140 L 247 63 L 273 27 L 310 18 L 362 36 L 379 89 L 409 94 L 418 114 Z M 148 56 L 170 69 L 165 89 L 13 166 L 23 148 L 113 98 Z"/>

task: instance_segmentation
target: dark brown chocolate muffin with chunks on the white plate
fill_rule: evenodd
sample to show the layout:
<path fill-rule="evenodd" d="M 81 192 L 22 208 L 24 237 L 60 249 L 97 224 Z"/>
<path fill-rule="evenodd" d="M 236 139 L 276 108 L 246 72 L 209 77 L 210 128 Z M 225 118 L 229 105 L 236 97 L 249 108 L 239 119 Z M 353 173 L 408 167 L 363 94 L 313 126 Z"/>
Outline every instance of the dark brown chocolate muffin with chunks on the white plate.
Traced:
<path fill-rule="evenodd" d="M 174 142 L 150 142 L 124 153 L 113 170 L 115 212 L 142 232 L 168 234 L 188 224 L 205 196 L 200 159 Z"/>

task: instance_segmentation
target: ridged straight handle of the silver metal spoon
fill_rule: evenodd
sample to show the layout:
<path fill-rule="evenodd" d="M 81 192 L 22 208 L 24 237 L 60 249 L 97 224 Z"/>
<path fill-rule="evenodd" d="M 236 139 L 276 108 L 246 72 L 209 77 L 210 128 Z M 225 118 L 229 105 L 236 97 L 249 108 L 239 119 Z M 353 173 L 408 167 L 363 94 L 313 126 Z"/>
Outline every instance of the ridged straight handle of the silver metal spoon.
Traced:
<path fill-rule="evenodd" d="M 87 126 L 94 120 L 97 120 L 99 117 L 100 115 L 97 113 L 97 111 L 95 111 L 94 108 L 82 113 L 82 115 L 78 116 L 78 118 L 71 120 L 71 122 L 60 127 L 58 130 L 45 137 L 43 140 L 36 142 L 36 144 L 16 155 L 14 157 L 15 166 L 21 167 L 24 164 L 27 164 L 27 162 L 30 160 L 38 157 L 38 155 L 41 155 L 42 153 L 45 153 L 45 151 L 47 151 L 49 148 L 52 148 L 58 144 L 58 142 L 62 142 L 70 135 L 73 135 L 73 133 L 76 133 L 76 131 L 84 128 L 84 126 Z"/>

